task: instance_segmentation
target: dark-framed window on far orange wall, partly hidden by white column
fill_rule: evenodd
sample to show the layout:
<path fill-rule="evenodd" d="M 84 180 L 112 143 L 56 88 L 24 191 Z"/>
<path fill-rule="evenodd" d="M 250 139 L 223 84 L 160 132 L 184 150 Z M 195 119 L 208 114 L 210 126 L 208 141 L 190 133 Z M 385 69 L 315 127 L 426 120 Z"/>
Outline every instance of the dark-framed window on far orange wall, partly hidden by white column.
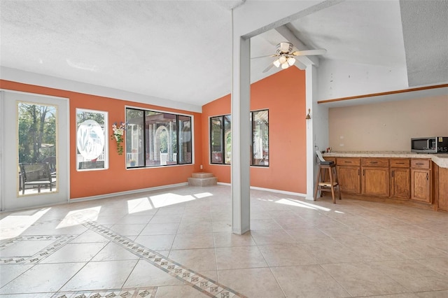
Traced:
<path fill-rule="evenodd" d="M 251 166 L 269 165 L 269 110 L 251 112 Z M 211 164 L 230 164 L 232 134 L 230 115 L 210 118 Z"/>

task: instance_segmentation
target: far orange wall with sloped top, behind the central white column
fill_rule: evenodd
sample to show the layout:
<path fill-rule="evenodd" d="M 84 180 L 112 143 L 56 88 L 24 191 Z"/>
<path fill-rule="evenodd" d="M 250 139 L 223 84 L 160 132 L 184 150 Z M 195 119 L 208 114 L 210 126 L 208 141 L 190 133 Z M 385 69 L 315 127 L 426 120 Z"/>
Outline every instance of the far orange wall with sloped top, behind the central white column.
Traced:
<path fill-rule="evenodd" d="M 251 111 L 269 109 L 269 167 L 251 166 L 251 186 L 307 193 L 305 72 L 290 67 L 251 85 Z M 202 164 L 230 183 L 229 165 L 210 164 L 209 118 L 230 114 L 230 94 L 202 106 Z"/>

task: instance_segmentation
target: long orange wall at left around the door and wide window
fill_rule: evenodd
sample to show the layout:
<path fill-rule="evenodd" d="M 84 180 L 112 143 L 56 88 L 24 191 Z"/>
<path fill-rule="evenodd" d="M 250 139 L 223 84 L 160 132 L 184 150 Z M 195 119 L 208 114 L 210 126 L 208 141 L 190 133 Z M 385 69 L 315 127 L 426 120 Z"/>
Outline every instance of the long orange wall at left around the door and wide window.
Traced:
<path fill-rule="evenodd" d="M 192 173 L 200 171 L 202 160 L 202 115 L 190 111 L 165 108 L 134 101 L 123 101 L 66 90 L 0 80 L 0 88 L 55 97 L 69 98 L 70 109 L 70 198 L 92 197 L 113 192 L 139 190 L 161 185 L 186 183 Z M 193 115 L 195 164 L 158 166 L 127 170 L 125 154 L 118 155 L 116 143 L 109 141 L 109 169 L 99 171 L 76 171 L 76 108 L 106 111 L 109 113 L 109 132 L 113 122 L 125 121 L 125 106 L 134 106 L 158 111 Z"/>

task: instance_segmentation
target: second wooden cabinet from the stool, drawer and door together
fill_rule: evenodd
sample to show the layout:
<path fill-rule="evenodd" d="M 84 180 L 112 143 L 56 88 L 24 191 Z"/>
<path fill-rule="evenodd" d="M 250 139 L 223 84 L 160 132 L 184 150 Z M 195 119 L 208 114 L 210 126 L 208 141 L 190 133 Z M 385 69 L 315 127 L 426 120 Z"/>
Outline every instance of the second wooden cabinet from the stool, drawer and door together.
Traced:
<path fill-rule="evenodd" d="M 375 197 L 389 196 L 389 164 L 386 158 L 362 158 L 362 194 Z"/>

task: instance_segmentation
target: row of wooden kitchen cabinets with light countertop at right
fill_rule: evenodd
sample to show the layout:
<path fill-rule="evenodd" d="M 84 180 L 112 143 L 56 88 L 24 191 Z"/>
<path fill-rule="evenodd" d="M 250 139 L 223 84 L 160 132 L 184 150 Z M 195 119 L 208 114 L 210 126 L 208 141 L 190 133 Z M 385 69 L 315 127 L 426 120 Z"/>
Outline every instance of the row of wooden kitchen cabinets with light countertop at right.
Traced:
<path fill-rule="evenodd" d="M 328 152 L 341 191 L 353 199 L 448 211 L 448 154 Z"/>

